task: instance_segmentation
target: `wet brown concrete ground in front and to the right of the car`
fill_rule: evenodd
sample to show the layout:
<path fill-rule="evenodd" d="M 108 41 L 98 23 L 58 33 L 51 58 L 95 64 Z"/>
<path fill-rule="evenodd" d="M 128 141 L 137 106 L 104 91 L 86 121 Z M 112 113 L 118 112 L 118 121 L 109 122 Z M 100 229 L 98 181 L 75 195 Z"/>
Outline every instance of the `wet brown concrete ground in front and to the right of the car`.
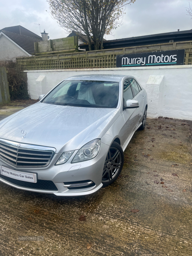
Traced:
<path fill-rule="evenodd" d="M 0 255 L 192 255 L 191 134 L 191 121 L 148 118 L 124 152 L 120 177 L 91 196 L 1 183 Z M 44 241 L 17 239 L 37 235 Z"/>

